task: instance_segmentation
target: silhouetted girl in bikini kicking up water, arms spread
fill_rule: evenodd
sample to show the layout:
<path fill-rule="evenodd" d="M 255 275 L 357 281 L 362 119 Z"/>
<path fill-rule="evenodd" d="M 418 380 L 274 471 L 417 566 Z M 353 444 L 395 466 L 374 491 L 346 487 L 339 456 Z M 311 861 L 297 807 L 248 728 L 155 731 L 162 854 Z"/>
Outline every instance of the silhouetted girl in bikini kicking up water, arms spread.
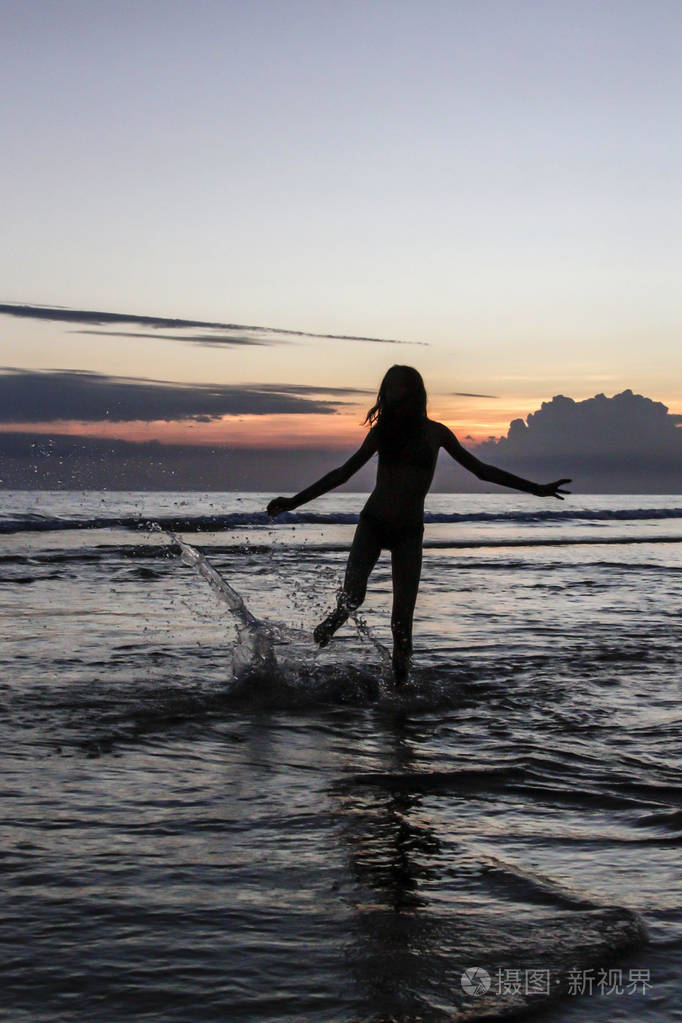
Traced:
<path fill-rule="evenodd" d="M 379 387 L 376 402 L 365 417 L 370 430 L 347 462 L 306 487 L 294 497 L 275 497 L 269 516 L 290 511 L 326 494 L 357 473 L 378 451 L 376 484 L 360 513 L 346 567 L 344 587 L 336 608 L 315 629 L 320 647 L 326 647 L 336 629 L 365 598 L 367 580 L 381 550 L 391 551 L 393 577 L 393 669 L 396 684 L 407 679 L 412 653 L 412 616 L 421 573 L 424 498 L 428 492 L 440 448 L 480 480 L 512 487 L 538 497 L 557 497 L 571 480 L 532 483 L 502 469 L 488 465 L 466 451 L 442 422 L 426 415 L 426 391 L 412 366 L 392 366 Z"/>

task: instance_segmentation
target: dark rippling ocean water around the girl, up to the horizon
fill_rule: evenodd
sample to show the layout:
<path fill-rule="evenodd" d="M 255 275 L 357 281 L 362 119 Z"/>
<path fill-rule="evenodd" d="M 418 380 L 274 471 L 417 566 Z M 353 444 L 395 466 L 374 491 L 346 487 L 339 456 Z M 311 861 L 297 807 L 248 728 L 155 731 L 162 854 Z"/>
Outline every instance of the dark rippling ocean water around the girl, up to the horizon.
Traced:
<path fill-rule="evenodd" d="M 682 498 L 0 493 L 0 1018 L 682 1020 Z"/>

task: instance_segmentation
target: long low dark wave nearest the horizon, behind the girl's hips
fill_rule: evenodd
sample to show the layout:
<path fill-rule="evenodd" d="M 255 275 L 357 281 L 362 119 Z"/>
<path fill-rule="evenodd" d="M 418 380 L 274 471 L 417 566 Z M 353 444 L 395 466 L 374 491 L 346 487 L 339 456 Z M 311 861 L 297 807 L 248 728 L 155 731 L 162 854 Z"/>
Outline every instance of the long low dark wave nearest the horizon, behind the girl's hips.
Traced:
<path fill-rule="evenodd" d="M 606 522 L 651 522 L 660 520 L 682 519 L 682 503 L 675 507 L 657 508 L 581 508 L 537 511 L 426 511 L 426 524 L 467 524 L 496 523 L 504 524 L 547 524 L 552 523 L 606 523 Z M 197 516 L 155 516 L 145 519 L 140 515 L 95 516 L 91 518 L 63 518 L 60 516 L 43 516 L 36 513 L 26 515 L 9 515 L 0 519 L 0 533 L 35 533 L 51 530 L 86 530 L 86 529 L 128 529 L 150 530 L 154 523 L 162 529 L 170 529 L 183 533 L 223 532 L 232 529 L 242 529 L 254 526 L 277 525 L 310 525 L 310 526 L 345 526 L 358 522 L 357 513 L 320 513 L 320 511 L 287 511 L 278 519 L 268 518 L 265 511 L 230 511 L 225 515 Z"/>

